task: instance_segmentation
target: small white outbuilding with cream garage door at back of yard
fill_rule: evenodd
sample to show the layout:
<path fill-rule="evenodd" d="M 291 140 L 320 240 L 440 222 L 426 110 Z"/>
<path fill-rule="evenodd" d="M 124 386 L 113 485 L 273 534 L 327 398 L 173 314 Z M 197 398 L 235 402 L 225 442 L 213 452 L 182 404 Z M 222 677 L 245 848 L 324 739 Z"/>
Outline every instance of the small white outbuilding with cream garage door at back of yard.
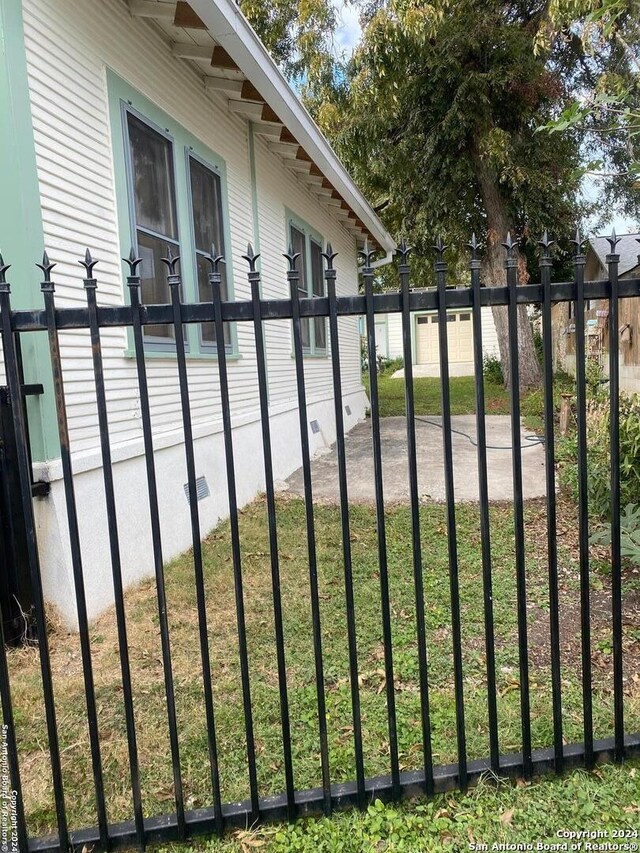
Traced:
<path fill-rule="evenodd" d="M 498 337 L 491 308 L 481 311 L 482 350 L 485 355 L 500 357 Z M 471 309 L 448 312 L 449 372 L 451 376 L 473 375 L 473 330 Z M 402 348 L 402 315 L 386 314 L 376 319 L 378 355 L 400 358 Z M 415 376 L 439 376 L 438 315 L 436 312 L 411 314 L 411 352 Z"/>

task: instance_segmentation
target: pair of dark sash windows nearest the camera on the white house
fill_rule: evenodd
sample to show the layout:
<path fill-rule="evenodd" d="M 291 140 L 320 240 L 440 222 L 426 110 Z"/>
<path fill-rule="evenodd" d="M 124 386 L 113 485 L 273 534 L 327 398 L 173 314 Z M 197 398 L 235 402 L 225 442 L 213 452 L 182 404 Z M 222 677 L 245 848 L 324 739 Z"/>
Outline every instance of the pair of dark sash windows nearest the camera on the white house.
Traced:
<path fill-rule="evenodd" d="M 171 301 L 167 269 L 162 263 L 169 246 L 174 255 L 181 257 L 182 298 L 209 302 L 210 265 L 206 258 L 212 246 L 218 253 L 225 254 L 220 172 L 197 155 L 191 145 L 156 126 L 130 104 L 122 106 L 132 237 L 143 261 L 140 267 L 142 302 L 166 304 Z M 226 301 L 230 296 L 225 265 L 221 266 L 221 273 L 222 299 Z M 146 326 L 144 336 L 145 344 L 151 349 L 175 349 L 172 326 Z M 215 353 L 213 323 L 199 326 L 197 342 L 193 336 L 189 341 L 186 329 L 185 338 L 191 352 L 198 349 L 202 353 Z M 225 345 L 229 351 L 234 348 L 233 338 L 230 324 L 225 324 Z"/>

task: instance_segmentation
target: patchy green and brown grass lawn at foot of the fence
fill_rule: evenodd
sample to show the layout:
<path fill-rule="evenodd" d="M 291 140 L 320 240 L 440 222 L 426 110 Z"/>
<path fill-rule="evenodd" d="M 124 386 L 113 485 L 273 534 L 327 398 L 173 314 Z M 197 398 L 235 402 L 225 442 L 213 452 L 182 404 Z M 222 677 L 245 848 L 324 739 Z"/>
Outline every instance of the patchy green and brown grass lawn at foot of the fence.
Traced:
<path fill-rule="evenodd" d="M 435 762 L 447 763 L 455 760 L 456 748 L 445 508 L 437 504 L 427 504 L 421 507 L 420 513 L 432 743 Z M 565 530 L 559 541 L 564 626 L 562 686 L 564 734 L 567 742 L 582 739 L 579 620 L 575 604 L 578 599 L 578 565 L 573 541 L 575 537 L 566 535 L 567 530 L 575 528 L 574 516 L 575 510 L 571 505 L 561 506 L 559 525 L 560 529 Z M 532 734 L 535 748 L 547 746 L 552 742 L 544 505 L 539 502 L 529 503 L 526 507 L 526 518 Z M 488 754 L 477 506 L 461 505 L 457 510 L 457 519 L 466 733 L 469 758 L 477 758 Z M 368 776 L 375 776 L 389 770 L 389 746 L 374 509 L 368 506 L 353 507 L 351 522 L 365 770 Z M 508 753 L 521 748 L 511 507 L 492 505 L 491 522 L 499 734 L 501 752 Z M 388 508 L 386 525 L 400 763 L 402 769 L 418 769 L 421 766 L 422 753 L 409 509 Z M 268 530 L 263 500 L 256 500 L 242 512 L 240 526 L 258 776 L 260 793 L 266 795 L 284 790 L 284 774 L 271 579 L 268 568 Z M 355 776 L 338 508 L 318 506 L 316 528 L 330 763 L 332 779 L 338 782 L 351 780 Z M 302 532 L 303 501 L 279 500 L 278 529 L 294 773 L 296 787 L 304 789 L 319 784 L 320 764 L 307 548 Z M 232 801 L 247 796 L 247 768 L 227 523 L 221 524 L 207 537 L 204 558 L 222 796 L 224 801 Z M 599 596 L 598 600 L 601 600 L 601 608 L 594 610 L 593 621 L 595 735 L 605 737 L 611 734 L 613 713 L 610 609 L 606 601 L 606 566 L 597 560 L 593 564 L 592 578 L 593 595 Z M 191 555 L 187 553 L 172 562 L 167 567 L 166 579 L 185 799 L 188 808 L 198 808 L 210 804 L 211 792 Z M 637 595 L 637 590 L 635 594 Z M 174 806 L 153 580 L 144 582 L 128 592 L 127 615 L 144 809 L 147 815 L 160 814 L 173 811 Z M 625 675 L 630 685 L 626 696 L 628 732 L 640 729 L 640 691 L 633 689 L 636 683 L 634 679 L 640 677 L 637 671 L 640 638 L 636 637 L 636 634 L 632 631 L 625 633 Z M 77 636 L 68 635 L 57 628 L 52 631 L 50 640 L 67 808 L 71 826 L 79 828 L 95 824 L 95 806 L 78 639 Z M 118 821 L 130 817 L 131 802 L 113 611 L 108 611 L 93 624 L 91 642 L 109 819 Z M 17 735 L 23 757 L 21 769 L 29 827 L 32 834 L 44 834 L 54 830 L 55 817 L 37 651 L 12 651 L 9 660 Z M 625 786 L 631 784 L 628 769 L 607 769 L 602 772 L 610 781 L 611 802 L 626 805 L 624 798 L 627 795 L 621 792 L 626 790 Z M 576 790 L 584 790 L 587 799 L 597 803 L 596 795 L 600 788 L 597 787 L 596 780 L 589 780 L 584 785 L 581 782 L 554 784 L 575 784 Z M 612 792 L 618 789 L 619 792 L 614 795 Z M 374 849 L 373 839 L 377 834 L 382 833 L 383 837 L 387 828 L 404 826 L 405 823 L 409 828 L 413 827 L 411 832 L 414 834 L 427 831 L 424 827 L 428 824 L 428 832 L 435 832 L 444 844 L 443 839 L 448 837 L 464 839 L 464 827 L 470 825 L 474 810 L 481 809 L 483 813 L 486 812 L 486 820 L 489 821 L 487 827 L 499 829 L 494 809 L 502 808 L 502 805 L 512 801 L 521 802 L 522 805 L 516 807 L 513 821 L 505 827 L 504 832 L 510 832 L 509 827 L 512 827 L 515 833 L 519 821 L 524 820 L 524 815 L 532 816 L 536 811 L 538 794 L 527 799 L 525 794 L 529 790 L 540 791 L 539 797 L 544 803 L 545 797 L 547 802 L 552 801 L 552 790 L 555 790 L 555 796 L 558 796 L 557 792 L 561 789 L 536 786 L 520 791 L 506 787 L 495 792 L 491 788 L 483 788 L 468 797 L 455 795 L 438 798 L 433 804 L 407 811 L 389 807 L 379 814 L 376 811 L 365 816 L 342 817 L 336 823 L 321 821 L 296 828 L 281 828 L 280 835 L 275 833 L 256 839 L 236 838 L 235 841 L 225 841 L 224 844 L 236 844 L 238 849 L 243 850 L 252 849 L 252 845 L 247 846 L 248 841 L 252 840 L 268 841 L 275 850 Z M 520 815 L 519 808 L 522 808 L 523 812 L 516 819 L 516 814 Z M 548 808 L 547 806 L 547 810 Z M 436 814 L 439 814 L 439 823 L 433 822 Z M 547 820 L 547 823 L 541 825 L 549 826 L 550 817 L 544 814 L 544 808 L 541 809 L 541 817 Z M 637 814 L 631 814 L 629 820 L 631 819 L 638 823 Z M 393 832 L 393 829 L 390 831 Z M 455 833 L 458 833 L 458 836 Z M 324 839 L 322 844 L 325 846 L 317 846 L 320 842 L 314 840 L 316 835 Z M 343 840 L 339 842 L 338 838 Z M 464 843 L 466 845 L 466 841 Z M 397 849 L 419 848 L 405 846 Z M 450 845 L 447 849 L 462 848 Z"/>

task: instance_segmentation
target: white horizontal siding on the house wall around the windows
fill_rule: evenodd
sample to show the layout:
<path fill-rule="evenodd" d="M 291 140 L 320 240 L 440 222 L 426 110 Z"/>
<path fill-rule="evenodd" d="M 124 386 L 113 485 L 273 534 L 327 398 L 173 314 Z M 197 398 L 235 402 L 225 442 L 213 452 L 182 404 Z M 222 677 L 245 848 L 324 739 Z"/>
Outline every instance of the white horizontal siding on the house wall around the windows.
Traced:
<path fill-rule="evenodd" d="M 162 36 L 132 18 L 124 0 L 24 0 L 29 86 L 40 185 L 45 243 L 56 262 L 59 306 L 84 305 L 78 259 L 90 247 L 100 261 L 100 305 L 123 302 L 123 272 L 106 86 L 106 69 L 124 78 L 171 115 L 226 163 L 235 298 L 248 299 L 246 263 L 241 259 L 253 240 L 251 178 L 246 121 L 231 113 L 223 99 L 204 91 L 201 78 L 175 59 Z M 52 58 L 54 61 L 52 62 Z M 285 296 L 285 206 L 333 242 L 338 292 L 357 292 L 355 244 L 328 209 L 285 168 L 264 141 L 256 139 L 260 244 L 265 296 Z M 344 390 L 360 387 L 356 320 L 340 321 Z M 265 326 L 270 401 L 294 400 L 290 323 Z M 97 412 L 91 349 L 84 330 L 61 333 L 61 351 L 72 448 L 98 446 Z M 238 324 L 241 358 L 229 363 L 234 416 L 257 409 L 257 372 L 253 331 Z M 125 356 L 122 329 L 102 331 L 107 404 L 114 443 L 141 434 L 140 400 L 135 363 Z M 175 358 L 147 359 L 152 422 L 155 432 L 181 424 Z M 308 397 L 326 397 L 330 362 L 305 364 Z M 194 426 L 213 423 L 220 415 L 217 363 L 189 361 L 189 390 Z"/>

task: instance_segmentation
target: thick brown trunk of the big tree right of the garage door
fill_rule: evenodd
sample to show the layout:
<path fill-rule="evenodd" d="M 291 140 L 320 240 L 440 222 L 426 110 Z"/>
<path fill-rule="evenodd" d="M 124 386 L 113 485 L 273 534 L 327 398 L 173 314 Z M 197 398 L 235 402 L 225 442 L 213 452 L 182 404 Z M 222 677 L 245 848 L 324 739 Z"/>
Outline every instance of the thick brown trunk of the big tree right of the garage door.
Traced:
<path fill-rule="evenodd" d="M 487 249 L 482 261 L 481 275 L 486 286 L 496 287 L 507 283 L 505 250 L 502 242 L 505 240 L 508 231 L 511 231 L 512 237 L 514 236 L 513 222 L 509 221 L 507 205 L 500 193 L 498 180 L 493 170 L 479 152 L 476 153 L 474 160 L 480 193 L 487 214 Z M 526 281 L 524 259 L 519 252 L 516 252 L 516 257 L 519 280 Z M 494 305 L 491 310 L 498 336 L 502 373 L 505 384 L 508 386 L 511 380 L 508 308 L 506 305 Z M 533 333 L 526 305 L 518 306 L 518 362 L 520 389 L 525 391 L 529 388 L 538 387 L 541 381 L 540 365 L 533 343 Z"/>

